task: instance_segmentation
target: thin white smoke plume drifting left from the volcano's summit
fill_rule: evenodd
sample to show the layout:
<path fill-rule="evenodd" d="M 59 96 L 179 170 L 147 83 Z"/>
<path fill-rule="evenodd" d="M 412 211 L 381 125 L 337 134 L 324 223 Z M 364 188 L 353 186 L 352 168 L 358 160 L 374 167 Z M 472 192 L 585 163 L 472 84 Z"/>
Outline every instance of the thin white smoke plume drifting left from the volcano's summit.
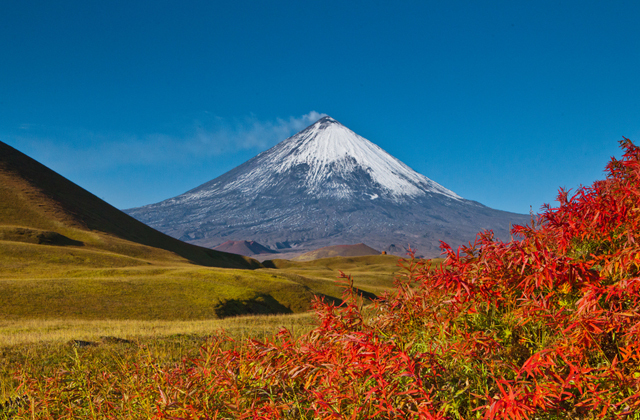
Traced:
<path fill-rule="evenodd" d="M 6 136 L 6 143 L 58 170 L 103 170 L 122 165 L 188 162 L 241 151 L 256 154 L 313 124 L 326 114 L 261 121 L 253 116 L 227 120 L 207 116 L 184 129 L 183 135 L 96 133 L 87 130 L 30 130 Z M 3 136 L 4 137 L 4 136 Z"/>

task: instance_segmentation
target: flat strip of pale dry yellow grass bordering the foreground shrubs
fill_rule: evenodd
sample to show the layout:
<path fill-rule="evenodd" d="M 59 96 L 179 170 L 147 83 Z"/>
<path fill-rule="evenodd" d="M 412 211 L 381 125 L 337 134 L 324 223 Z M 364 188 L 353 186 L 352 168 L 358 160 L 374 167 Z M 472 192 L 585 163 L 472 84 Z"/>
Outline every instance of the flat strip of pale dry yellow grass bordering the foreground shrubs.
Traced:
<path fill-rule="evenodd" d="M 125 360 L 147 357 L 170 364 L 197 355 L 213 335 L 263 339 L 284 327 L 300 336 L 315 325 L 311 312 L 195 321 L 0 321 L 0 403 L 20 395 L 14 374 L 21 368 L 38 377 L 66 369 L 79 359 L 114 369 Z M 91 345 L 78 347 L 78 341 Z"/>

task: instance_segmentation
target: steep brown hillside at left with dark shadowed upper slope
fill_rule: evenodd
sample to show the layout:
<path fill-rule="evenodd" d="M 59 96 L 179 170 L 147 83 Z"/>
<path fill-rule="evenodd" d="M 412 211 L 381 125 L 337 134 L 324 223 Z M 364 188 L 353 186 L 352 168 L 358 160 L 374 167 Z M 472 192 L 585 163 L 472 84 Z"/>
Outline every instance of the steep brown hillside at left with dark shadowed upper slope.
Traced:
<path fill-rule="evenodd" d="M 82 246 L 212 267 L 260 267 L 251 258 L 186 244 L 158 232 L 3 142 L 1 240 Z"/>

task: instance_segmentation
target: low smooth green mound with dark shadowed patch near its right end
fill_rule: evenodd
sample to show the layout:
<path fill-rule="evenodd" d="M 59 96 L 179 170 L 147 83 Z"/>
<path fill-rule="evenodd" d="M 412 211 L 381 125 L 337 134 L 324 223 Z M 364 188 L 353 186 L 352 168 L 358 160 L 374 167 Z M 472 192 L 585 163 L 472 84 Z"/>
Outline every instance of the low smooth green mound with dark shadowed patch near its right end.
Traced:
<path fill-rule="evenodd" d="M 247 313 L 304 312 L 311 297 L 305 285 L 267 272 L 77 270 L 62 278 L 0 280 L 0 318 L 210 319 L 239 315 L 234 301 L 244 302 Z"/>

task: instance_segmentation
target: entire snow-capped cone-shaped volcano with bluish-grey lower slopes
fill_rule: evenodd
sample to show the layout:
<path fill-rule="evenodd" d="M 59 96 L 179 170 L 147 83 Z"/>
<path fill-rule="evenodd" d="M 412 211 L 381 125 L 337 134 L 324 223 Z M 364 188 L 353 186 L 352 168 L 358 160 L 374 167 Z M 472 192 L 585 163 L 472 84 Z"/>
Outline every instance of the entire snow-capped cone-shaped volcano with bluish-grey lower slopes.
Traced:
<path fill-rule="evenodd" d="M 213 247 L 251 238 L 307 251 L 365 242 L 440 254 L 483 229 L 508 238 L 529 216 L 465 200 L 331 117 L 191 191 L 126 210 L 171 236 Z M 290 249 L 288 249 L 290 248 Z"/>

